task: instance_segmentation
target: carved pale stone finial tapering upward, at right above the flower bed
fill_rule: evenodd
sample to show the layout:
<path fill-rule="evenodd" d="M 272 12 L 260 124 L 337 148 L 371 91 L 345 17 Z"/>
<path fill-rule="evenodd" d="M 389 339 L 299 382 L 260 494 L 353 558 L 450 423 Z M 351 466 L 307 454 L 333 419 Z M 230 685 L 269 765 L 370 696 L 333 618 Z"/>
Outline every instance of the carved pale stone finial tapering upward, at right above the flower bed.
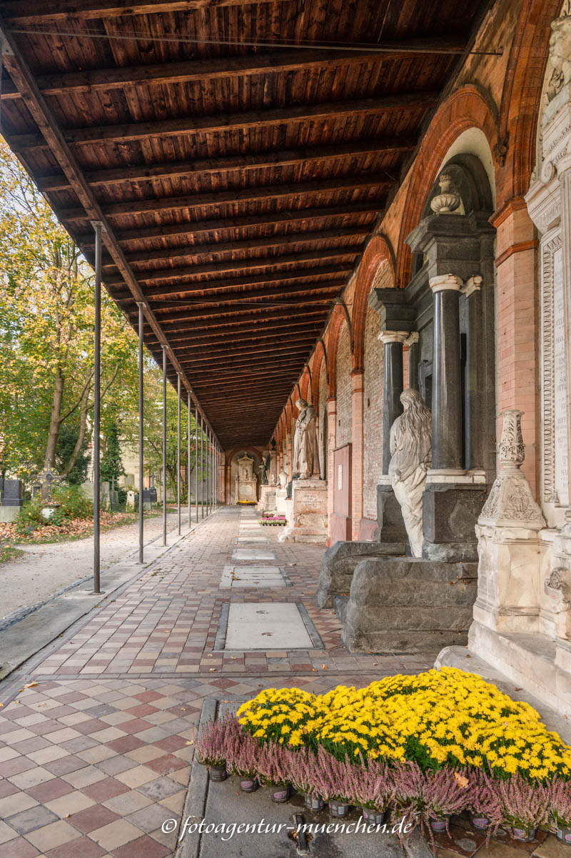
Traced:
<path fill-rule="evenodd" d="M 525 446 L 521 434 L 523 411 L 508 408 L 502 412 L 502 439 L 498 445 L 500 472 L 478 518 L 478 524 L 540 530 L 545 519 L 533 499 L 526 475 L 520 470 Z"/>

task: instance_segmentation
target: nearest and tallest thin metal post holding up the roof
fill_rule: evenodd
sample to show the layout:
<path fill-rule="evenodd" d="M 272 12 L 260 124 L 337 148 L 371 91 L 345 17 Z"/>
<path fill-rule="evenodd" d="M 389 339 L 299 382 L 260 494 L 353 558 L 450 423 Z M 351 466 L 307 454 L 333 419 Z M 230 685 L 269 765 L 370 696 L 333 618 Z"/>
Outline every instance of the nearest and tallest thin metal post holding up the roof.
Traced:
<path fill-rule="evenodd" d="M 0 75 L 2 65 L 0 64 Z M 95 332 L 93 340 L 93 593 L 101 592 L 99 576 L 99 432 L 101 426 L 101 221 L 95 230 Z"/>

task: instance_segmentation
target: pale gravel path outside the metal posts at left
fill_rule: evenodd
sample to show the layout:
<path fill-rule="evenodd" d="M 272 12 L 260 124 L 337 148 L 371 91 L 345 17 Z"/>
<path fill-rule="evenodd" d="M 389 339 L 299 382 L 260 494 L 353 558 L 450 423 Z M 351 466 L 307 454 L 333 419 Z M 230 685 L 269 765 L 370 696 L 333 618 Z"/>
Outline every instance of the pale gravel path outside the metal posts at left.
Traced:
<path fill-rule="evenodd" d="M 177 513 L 169 513 L 166 526 L 177 525 Z M 161 516 L 145 519 L 145 542 L 162 533 Z M 101 570 L 117 563 L 138 546 L 139 525 L 125 524 L 101 534 Z M 0 619 L 21 607 L 45 601 L 93 570 L 93 536 L 72 542 L 18 546 L 25 553 L 0 565 Z"/>

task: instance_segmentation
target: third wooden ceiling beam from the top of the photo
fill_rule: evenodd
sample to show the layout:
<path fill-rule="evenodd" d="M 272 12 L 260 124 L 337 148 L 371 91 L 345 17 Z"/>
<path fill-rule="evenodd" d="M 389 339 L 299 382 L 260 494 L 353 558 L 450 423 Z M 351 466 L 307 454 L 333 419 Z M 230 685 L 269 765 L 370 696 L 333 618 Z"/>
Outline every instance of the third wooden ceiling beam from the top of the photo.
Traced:
<path fill-rule="evenodd" d="M 65 142 L 72 148 L 93 143 L 127 143 L 149 140 L 153 137 L 183 137 L 198 134 L 227 134 L 232 129 L 240 132 L 283 124 L 330 122 L 335 119 L 352 119 L 361 116 L 428 110 L 434 107 L 438 93 L 434 91 L 386 95 L 376 99 L 334 101 L 327 104 L 272 107 L 267 110 L 244 113 L 217 113 L 211 116 L 159 119 L 153 122 L 132 122 L 113 125 L 93 125 L 87 128 L 63 130 Z M 10 145 L 16 151 L 46 148 L 45 137 L 38 132 L 10 136 Z"/>

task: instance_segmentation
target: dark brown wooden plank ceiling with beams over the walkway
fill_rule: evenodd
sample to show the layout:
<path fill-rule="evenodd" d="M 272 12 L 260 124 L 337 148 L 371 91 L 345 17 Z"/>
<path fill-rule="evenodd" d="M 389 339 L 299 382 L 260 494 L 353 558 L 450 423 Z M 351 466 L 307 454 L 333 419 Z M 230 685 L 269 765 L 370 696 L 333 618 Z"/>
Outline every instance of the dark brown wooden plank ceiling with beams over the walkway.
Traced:
<path fill-rule="evenodd" d="M 0 3 L 4 136 L 225 449 L 267 443 L 484 5 Z"/>

